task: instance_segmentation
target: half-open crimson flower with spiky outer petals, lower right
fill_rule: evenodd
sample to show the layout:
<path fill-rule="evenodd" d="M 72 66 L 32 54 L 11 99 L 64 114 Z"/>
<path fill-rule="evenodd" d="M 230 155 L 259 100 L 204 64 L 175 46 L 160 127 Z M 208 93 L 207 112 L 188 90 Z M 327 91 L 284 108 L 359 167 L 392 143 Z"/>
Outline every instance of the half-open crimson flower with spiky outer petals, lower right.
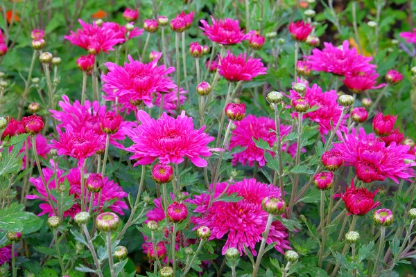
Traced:
<path fill-rule="evenodd" d="M 377 190 L 370 193 L 367 188 L 355 188 L 354 179 L 351 180 L 351 187 L 345 190 L 345 193 L 333 195 L 333 198 L 341 197 L 347 209 L 347 215 L 365 215 L 373 208 L 381 205 L 374 201 Z"/>

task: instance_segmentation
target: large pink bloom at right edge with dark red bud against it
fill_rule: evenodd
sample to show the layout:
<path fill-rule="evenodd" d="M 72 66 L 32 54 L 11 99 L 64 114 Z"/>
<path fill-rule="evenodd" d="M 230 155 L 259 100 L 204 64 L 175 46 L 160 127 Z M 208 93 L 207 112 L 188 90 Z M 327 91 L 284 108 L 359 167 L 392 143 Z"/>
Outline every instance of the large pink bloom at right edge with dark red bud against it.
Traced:
<path fill-rule="evenodd" d="M 344 166 L 354 166 L 358 179 L 365 183 L 390 178 L 399 184 L 398 179 L 408 180 L 415 176 L 412 167 L 416 163 L 404 162 L 405 159 L 415 159 L 408 154 L 410 146 L 392 142 L 386 147 L 374 134 L 365 134 L 363 128 L 358 134 L 353 129 L 343 143 L 336 143 L 333 147 L 343 153 Z"/>

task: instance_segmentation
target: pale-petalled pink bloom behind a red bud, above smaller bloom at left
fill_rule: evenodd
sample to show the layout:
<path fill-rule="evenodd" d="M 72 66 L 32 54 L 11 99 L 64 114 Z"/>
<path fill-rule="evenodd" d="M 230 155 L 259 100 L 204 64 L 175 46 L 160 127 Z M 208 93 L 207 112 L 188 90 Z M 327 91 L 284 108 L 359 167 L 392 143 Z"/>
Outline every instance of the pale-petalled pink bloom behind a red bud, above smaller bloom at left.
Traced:
<path fill-rule="evenodd" d="M 58 127 L 65 127 L 71 125 L 73 129 L 80 129 L 85 127 L 88 130 L 92 130 L 98 135 L 103 141 L 105 141 L 106 134 L 100 127 L 100 121 L 104 118 L 106 114 L 105 105 L 100 105 L 98 101 L 89 102 L 85 100 L 85 104 L 81 105 L 78 100 L 75 100 L 73 104 L 69 101 L 68 96 L 62 96 L 62 100 L 58 103 L 62 111 L 49 110 L 53 118 L 56 118 L 61 123 L 58 124 Z M 110 135 L 110 144 L 114 145 L 116 148 L 124 149 L 123 145 L 117 141 L 123 141 L 125 139 L 125 134 L 122 130 L 123 127 L 130 126 L 131 123 L 122 121 L 119 127 L 119 130 Z"/>

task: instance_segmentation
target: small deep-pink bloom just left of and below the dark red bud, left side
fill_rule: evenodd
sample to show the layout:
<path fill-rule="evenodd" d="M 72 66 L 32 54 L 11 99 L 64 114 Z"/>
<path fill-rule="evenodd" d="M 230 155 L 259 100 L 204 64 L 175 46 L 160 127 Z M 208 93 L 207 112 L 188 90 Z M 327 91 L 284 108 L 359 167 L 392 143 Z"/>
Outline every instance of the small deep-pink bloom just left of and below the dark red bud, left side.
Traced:
<path fill-rule="evenodd" d="M 58 141 L 52 141 L 53 148 L 58 150 L 59 155 L 67 155 L 73 159 L 78 159 L 79 163 L 83 163 L 84 159 L 96 154 L 105 147 L 105 141 L 101 136 L 97 136 L 92 129 L 82 127 L 74 129 L 71 125 L 67 125 L 65 132 L 58 129 L 60 136 Z"/>

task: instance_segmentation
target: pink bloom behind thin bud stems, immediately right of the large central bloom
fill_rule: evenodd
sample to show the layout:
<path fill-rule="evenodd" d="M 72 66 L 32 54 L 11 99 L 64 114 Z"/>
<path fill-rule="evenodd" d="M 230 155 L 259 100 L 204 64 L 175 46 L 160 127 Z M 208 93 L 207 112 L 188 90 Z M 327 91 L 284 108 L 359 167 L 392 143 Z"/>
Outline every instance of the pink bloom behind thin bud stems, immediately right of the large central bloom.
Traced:
<path fill-rule="evenodd" d="M 273 147 L 276 141 L 276 133 L 269 132 L 270 129 L 273 131 L 276 130 L 275 120 L 272 118 L 259 117 L 253 115 L 245 116 L 241 121 L 235 121 L 236 129 L 232 131 L 232 136 L 229 141 L 229 149 L 235 147 L 243 147 L 245 150 L 239 153 L 232 155 L 232 164 L 235 166 L 237 163 L 248 163 L 248 166 L 254 166 L 254 162 L 259 163 L 259 166 L 264 166 L 266 164 L 266 159 L 264 159 L 264 150 L 257 148 L 256 144 L 253 141 L 253 138 L 263 139 L 267 141 L 270 148 Z M 280 135 L 284 136 L 291 132 L 291 126 L 286 126 L 280 124 Z M 296 146 L 288 147 L 287 143 L 282 145 L 282 150 L 290 153 L 292 156 L 296 154 Z M 269 151 L 272 156 L 275 155 L 275 152 Z"/>

